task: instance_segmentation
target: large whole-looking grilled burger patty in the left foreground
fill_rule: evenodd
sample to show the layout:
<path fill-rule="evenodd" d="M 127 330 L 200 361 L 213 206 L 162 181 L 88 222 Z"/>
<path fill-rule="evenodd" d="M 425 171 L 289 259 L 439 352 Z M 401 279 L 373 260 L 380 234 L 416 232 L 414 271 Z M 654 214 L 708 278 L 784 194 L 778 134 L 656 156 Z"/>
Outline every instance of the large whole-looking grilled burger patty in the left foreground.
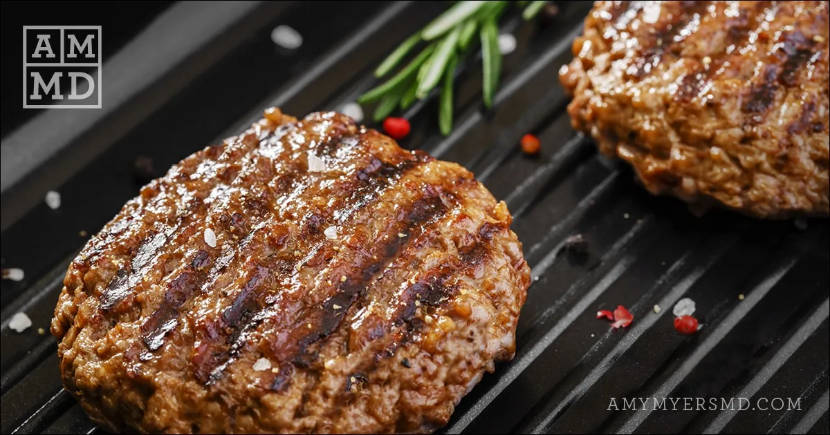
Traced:
<path fill-rule="evenodd" d="M 113 431 L 430 432 L 514 355 L 530 271 L 510 221 L 454 163 L 270 109 L 71 263 L 64 384 Z"/>

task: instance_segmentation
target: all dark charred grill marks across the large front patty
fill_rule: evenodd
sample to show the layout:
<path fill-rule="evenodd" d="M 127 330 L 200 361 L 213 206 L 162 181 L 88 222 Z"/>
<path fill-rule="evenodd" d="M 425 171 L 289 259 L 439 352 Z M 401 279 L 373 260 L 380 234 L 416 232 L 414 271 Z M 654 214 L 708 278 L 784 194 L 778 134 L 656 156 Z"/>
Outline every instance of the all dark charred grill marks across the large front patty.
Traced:
<path fill-rule="evenodd" d="M 101 309 L 105 312 L 111 310 L 133 292 L 137 280 L 154 266 L 153 260 L 166 254 L 164 244 L 168 240 L 181 236 L 183 231 L 188 232 L 194 225 L 199 229 L 197 234 L 188 235 L 199 237 L 202 228 L 199 222 L 203 217 L 219 215 L 219 222 L 213 224 L 213 229 L 219 234 L 219 231 L 232 228 L 236 231 L 236 240 L 226 238 L 224 246 L 200 249 L 193 254 L 189 262 L 169 278 L 163 302 L 141 325 L 144 346 L 151 351 L 159 350 L 164 346 L 165 337 L 180 326 L 179 317 L 185 307 L 188 310 L 198 310 L 198 304 L 205 306 L 227 299 L 227 293 L 219 294 L 220 289 L 214 288 L 217 279 L 227 273 L 225 269 L 234 258 L 241 255 L 244 257 L 246 249 L 256 249 L 259 244 L 266 243 L 266 238 L 258 234 L 274 232 L 274 228 L 281 225 L 284 209 L 291 208 L 292 202 L 298 201 L 298 198 L 309 196 L 312 191 L 320 191 L 323 185 L 339 183 L 339 199 L 325 209 L 312 210 L 302 220 L 295 234 L 302 239 L 294 241 L 293 252 L 280 251 L 264 263 L 251 264 L 247 278 L 244 278 L 235 296 L 229 299 L 232 302 L 222 308 L 221 314 L 197 319 L 195 324 L 192 364 L 193 373 L 198 379 L 207 384 L 216 381 L 243 351 L 250 348 L 249 345 L 256 344 L 265 337 L 279 336 L 279 339 L 270 341 L 272 346 L 266 353 L 277 361 L 270 388 L 285 389 L 290 384 L 294 366 L 305 367 L 313 362 L 318 342 L 339 331 L 349 311 L 354 312 L 352 308 L 355 305 L 360 307 L 369 303 L 358 301 L 366 296 L 369 286 L 376 281 L 375 278 L 393 264 L 399 265 L 403 252 L 409 249 L 413 240 L 427 237 L 430 226 L 459 205 L 456 194 L 444 186 L 423 183 L 415 183 L 413 186 L 413 181 L 408 181 L 408 173 L 432 162 L 432 157 L 422 152 L 413 152 L 393 155 L 396 161 L 383 161 L 361 149 L 366 142 L 364 134 L 378 133 L 354 134 L 354 124 L 349 124 L 350 120 L 344 122 L 346 118 L 337 117 L 339 115 L 332 117 L 313 114 L 300 123 L 287 124 L 261 136 L 256 147 L 248 146 L 244 151 L 227 153 L 233 157 L 233 162 L 225 162 L 228 167 L 220 170 L 225 175 L 220 177 L 222 182 L 197 188 L 199 193 L 210 198 L 210 206 L 203 206 L 202 200 L 197 196 L 195 201 L 202 205 L 198 213 L 178 216 L 175 224 L 169 225 L 164 233 L 145 237 L 128 268 L 122 269 L 112 279 L 108 290 L 102 295 Z M 305 127 L 313 127 L 305 128 L 304 123 Z M 309 130 L 318 133 L 319 138 L 315 138 Z M 259 167 L 267 164 L 267 159 L 302 148 L 303 140 L 316 143 L 310 147 L 310 152 L 320 157 L 327 167 L 335 170 L 354 168 L 333 178 L 325 178 L 330 176 L 327 170 L 323 174 L 325 181 L 320 181 L 314 178 L 314 172 L 308 172 L 307 166 L 295 163 L 271 181 L 270 197 L 252 195 L 257 190 L 266 191 L 263 187 L 256 186 L 266 184 L 266 181 L 270 181 L 267 179 L 261 183 L 255 182 L 247 189 L 236 187 L 237 184 L 246 184 L 246 176 L 257 173 L 261 175 Z M 212 148 L 210 152 L 218 154 L 217 157 L 221 155 L 221 149 Z M 355 162 L 359 162 L 356 167 Z M 204 164 L 200 166 L 204 170 Z M 256 171 L 251 171 L 254 167 Z M 456 184 L 462 186 L 466 181 L 475 182 L 461 179 Z M 383 195 L 388 191 L 413 188 L 416 192 L 411 196 L 411 201 L 399 204 L 397 215 L 389 216 L 386 220 L 389 225 L 376 234 L 374 240 L 366 240 L 368 244 L 362 249 L 350 253 L 354 254 L 354 259 L 332 255 L 331 242 L 322 231 L 325 226 L 342 225 L 349 230 L 349 222 L 364 219 L 355 217 L 358 213 L 372 213 L 374 205 L 382 201 Z M 222 209 L 231 208 L 232 203 L 238 202 L 242 202 L 243 208 L 250 213 L 222 213 Z M 222 217 L 227 219 L 222 220 Z M 406 343 L 413 332 L 422 326 L 422 321 L 415 318 L 419 305 L 438 307 L 452 296 L 456 286 L 450 282 L 450 278 L 459 272 L 466 272 L 485 258 L 487 240 L 494 230 L 503 228 L 496 226 L 483 225 L 476 243 L 459 249 L 458 257 L 445 259 L 437 267 L 422 273 L 398 294 L 386 295 L 396 308 L 390 312 L 391 317 L 384 321 L 383 329 L 374 332 L 376 336 L 372 340 L 389 331 L 393 333 L 384 339 L 383 350 L 378 351 L 376 361 L 393 355 L 398 346 Z M 276 230 L 276 233 L 280 231 Z M 286 241 L 286 237 L 287 233 L 283 234 L 282 242 Z M 300 255 L 296 255 L 298 251 Z M 300 307 L 291 307 L 291 316 L 285 312 L 280 315 L 280 311 L 286 309 L 284 304 L 291 304 L 291 301 L 286 301 L 283 292 L 302 282 L 298 276 L 300 269 L 323 257 L 328 258 L 326 261 L 330 263 L 320 272 L 320 277 L 326 279 L 320 279 L 319 288 L 315 290 L 323 295 L 323 302 L 309 303 L 302 300 Z M 343 270 L 346 271 L 344 274 L 338 274 Z M 341 280 L 341 277 L 345 279 Z M 228 290 L 233 291 L 232 288 L 227 288 L 225 292 Z M 263 321 L 266 323 L 263 324 Z"/>

